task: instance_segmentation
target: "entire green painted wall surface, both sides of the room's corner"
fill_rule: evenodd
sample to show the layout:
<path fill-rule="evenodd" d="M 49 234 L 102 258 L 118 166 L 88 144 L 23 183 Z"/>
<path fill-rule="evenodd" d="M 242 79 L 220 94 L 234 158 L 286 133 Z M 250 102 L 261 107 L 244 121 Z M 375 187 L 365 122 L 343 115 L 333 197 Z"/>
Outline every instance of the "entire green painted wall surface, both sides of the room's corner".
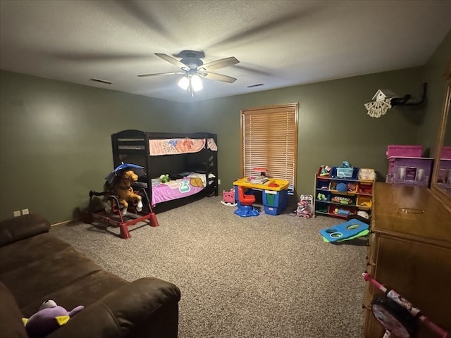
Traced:
<path fill-rule="evenodd" d="M 437 77 L 450 39 L 424 67 L 191 104 L 1 71 L 0 219 L 23 208 L 51 223 L 73 218 L 87 206 L 89 190 L 102 188 L 113 166 L 110 136 L 125 129 L 216 132 L 220 188 L 229 189 L 240 176 L 240 110 L 293 102 L 299 102 L 298 194 L 313 193 L 319 165 L 345 160 L 375 168 L 384 180 L 389 144 L 435 142 L 445 90 Z M 425 81 L 428 105 L 366 115 L 364 104 L 377 89 L 419 97 Z"/>

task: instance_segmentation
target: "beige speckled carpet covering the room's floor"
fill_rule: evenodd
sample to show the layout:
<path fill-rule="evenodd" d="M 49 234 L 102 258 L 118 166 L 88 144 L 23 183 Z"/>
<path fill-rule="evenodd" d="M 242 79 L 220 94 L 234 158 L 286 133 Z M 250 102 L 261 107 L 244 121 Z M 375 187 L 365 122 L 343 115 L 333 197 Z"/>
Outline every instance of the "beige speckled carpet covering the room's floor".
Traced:
<path fill-rule="evenodd" d="M 366 239 L 323 242 L 342 220 L 241 218 L 221 196 L 159 213 L 159 227 L 51 228 L 126 280 L 154 276 L 182 293 L 179 337 L 362 337 Z"/>

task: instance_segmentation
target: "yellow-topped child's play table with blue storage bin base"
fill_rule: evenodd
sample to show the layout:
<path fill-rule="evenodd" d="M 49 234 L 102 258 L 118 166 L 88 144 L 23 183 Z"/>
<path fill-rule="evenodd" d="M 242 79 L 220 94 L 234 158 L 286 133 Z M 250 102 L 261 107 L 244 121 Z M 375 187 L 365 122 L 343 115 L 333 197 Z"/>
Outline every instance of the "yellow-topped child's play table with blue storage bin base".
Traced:
<path fill-rule="evenodd" d="M 276 184 L 277 186 L 272 186 Z M 235 188 L 235 199 L 238 206 L 240 206 L 237 192 L 237 187 L 239 186 L 247 189 L 262 190 L 263 205 L 265 213 L 268 215 L 279 215 L 288 206 L 288 187 L 290 186 L 290 182 L 286 180 L 269 178 L 268 182 L 265 182 L 264 184 L 251 183 L 249 177 L 236 180 L 233 182 L 233 187 Z"/>

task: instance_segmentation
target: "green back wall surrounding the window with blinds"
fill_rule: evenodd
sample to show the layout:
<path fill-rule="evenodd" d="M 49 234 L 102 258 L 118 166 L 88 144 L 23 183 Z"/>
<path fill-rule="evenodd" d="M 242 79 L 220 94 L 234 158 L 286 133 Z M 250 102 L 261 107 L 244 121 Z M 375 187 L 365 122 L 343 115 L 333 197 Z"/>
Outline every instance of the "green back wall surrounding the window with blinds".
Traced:
<path fill-rule="evenodd" d="M 342 80 L 257 92 L 192 104 L 187 127 L 218 133 L 222 189 L 240 176 L 240 109 L 299 102 L 297 194 L 313 194 L 319 165 L 350 161 L 375 168 L 385 180 L 389 144 L 416 144 L 422 108 L 396 107 L 371 118 L 364 104 L 378 89 L 421 95 L 422 68 L 397 70 Z M 190 125 L 195 121 L 195 125 Z M 226 147 L 225 147 L 226 146 Z"/>

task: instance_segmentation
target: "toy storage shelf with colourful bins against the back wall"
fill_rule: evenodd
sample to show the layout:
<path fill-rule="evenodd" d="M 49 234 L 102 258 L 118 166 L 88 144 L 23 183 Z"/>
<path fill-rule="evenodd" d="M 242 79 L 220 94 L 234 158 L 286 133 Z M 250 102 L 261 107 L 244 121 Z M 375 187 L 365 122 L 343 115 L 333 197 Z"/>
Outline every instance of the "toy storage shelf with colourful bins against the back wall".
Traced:
<path fill-rule="evenodd" d="M 359 180 L 359 168 L 350 178 L 315 175 L 315 215 L 346 219 L 357 211 L 371 215 L 373 180 Z M 345 184 L 345 192 L 338 191 L 338 184 Z M 340 189 L 341 190 L 341 189 Z"/>

